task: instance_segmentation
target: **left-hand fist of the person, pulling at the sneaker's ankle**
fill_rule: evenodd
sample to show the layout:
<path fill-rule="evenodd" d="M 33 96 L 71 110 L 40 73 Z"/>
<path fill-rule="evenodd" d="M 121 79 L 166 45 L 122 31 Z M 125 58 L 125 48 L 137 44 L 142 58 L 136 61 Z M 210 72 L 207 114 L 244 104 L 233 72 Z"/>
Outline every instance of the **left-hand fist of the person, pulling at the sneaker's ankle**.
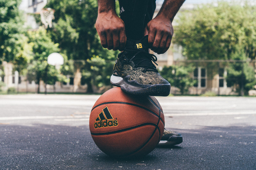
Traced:
<path fill-rule="evenodd" d="M 95 27 L 103 48 L 124 50 L 126 42 L 124 21 L 116 13 L 99 13 Z"/>

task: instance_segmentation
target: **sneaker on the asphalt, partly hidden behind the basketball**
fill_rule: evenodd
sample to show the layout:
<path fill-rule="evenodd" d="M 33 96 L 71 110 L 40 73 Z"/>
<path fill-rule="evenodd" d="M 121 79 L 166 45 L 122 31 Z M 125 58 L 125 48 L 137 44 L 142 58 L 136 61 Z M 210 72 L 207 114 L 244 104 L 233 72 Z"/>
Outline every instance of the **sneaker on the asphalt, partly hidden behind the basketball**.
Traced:
<path fill-rule="evenodd" d="M 170 147 L 183 142 L 182 135 L 178 132 L 166 130 L 164 128 L 164 134 L 161 141 L 157 145 L 158 147 Z"/>

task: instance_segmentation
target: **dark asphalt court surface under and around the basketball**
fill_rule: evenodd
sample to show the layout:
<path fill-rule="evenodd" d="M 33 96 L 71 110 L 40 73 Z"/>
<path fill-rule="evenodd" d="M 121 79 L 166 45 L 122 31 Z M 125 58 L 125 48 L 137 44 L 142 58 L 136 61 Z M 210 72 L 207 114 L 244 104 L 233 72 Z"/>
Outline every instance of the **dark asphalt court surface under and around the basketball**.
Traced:
<path fill-rule="evenodd" d="M 256 169 L 255 97 L 157 97 L 165 127 L 184 142 L 141 159 L 113 159 L 94 144 L 98 98 L 0 96 L 0 169 Z"/>

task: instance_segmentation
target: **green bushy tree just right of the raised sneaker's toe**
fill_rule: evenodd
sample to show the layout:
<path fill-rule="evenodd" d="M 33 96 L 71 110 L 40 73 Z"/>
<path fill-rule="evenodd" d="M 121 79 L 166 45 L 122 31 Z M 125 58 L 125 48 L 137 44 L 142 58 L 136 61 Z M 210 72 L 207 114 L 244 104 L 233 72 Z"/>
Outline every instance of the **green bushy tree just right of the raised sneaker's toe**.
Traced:
<path fill-rule="evenodd" d="M 160 74 L 169 83 L 180 89 L 180 93 L 183 95 L 188 92 L 189 87 L 195 84 L 195 80 L 191 78 L 191 73 L 195 68 L 192 66 L 164 66 Z"/>

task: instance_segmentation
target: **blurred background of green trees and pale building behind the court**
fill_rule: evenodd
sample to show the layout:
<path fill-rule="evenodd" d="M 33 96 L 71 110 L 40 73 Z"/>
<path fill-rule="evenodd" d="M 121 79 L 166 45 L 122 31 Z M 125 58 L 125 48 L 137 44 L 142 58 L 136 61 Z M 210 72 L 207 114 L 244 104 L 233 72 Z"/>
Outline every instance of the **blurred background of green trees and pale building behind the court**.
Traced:
<path fill-rule="evenodd" d="M 110 89 L 119 52 L 101 47 L 97 10 L 97 0 L 0 0 L 0 94 Z M 253 0 L 185 1 L 170 49 L 151 51 L 172 95 L 256 96 L 255 16 Z"/>

